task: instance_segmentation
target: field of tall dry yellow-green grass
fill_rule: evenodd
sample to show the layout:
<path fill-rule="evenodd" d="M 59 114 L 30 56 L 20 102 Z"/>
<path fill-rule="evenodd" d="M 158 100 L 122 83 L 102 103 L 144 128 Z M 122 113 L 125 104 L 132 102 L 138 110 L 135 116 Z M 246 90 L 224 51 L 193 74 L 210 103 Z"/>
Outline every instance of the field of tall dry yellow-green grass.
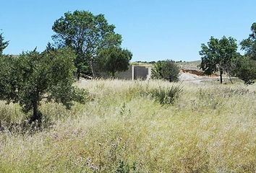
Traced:
<path fill-rule="evenodd" d="M 165 81 L 79 85 L 88 103 L 43 104 L 48 128 L 35 133 L 19 130 L 20 107 L 0 102 L 2 126 L 18 131 L 0 132 L 0 172 L 256 171 L 255 85 L 183 82 L 173 105 L 148 95 Z"/>

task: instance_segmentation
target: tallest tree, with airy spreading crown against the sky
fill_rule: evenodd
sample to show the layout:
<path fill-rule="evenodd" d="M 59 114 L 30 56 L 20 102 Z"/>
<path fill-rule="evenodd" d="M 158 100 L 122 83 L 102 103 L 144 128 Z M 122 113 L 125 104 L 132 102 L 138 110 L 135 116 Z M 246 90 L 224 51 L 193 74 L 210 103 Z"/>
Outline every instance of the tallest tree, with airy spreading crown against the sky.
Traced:
<path fill-rule="evenodd" d="M 53 36 L 56 45 L 69 46 L 77 54 L 74 61 L 77 79 L 82 71 L 95 76 L 93 63 L 98 53 L 103 48 L 121 45 L 121 35 L 114 32 L 115 26 L 109 25 L 103 14 L 67 12 L 54 22 L 52 29 L 56 32 Z"/>

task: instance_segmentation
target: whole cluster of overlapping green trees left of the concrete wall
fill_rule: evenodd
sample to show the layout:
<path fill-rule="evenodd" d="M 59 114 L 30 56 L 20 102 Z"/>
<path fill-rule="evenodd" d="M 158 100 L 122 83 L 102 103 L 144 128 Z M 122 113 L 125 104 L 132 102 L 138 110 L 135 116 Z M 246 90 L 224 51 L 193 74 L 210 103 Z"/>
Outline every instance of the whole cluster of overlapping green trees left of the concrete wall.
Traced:
<path fill-rule="evenodd" d="M 74 102 L 85 103 L 87 92 L 74 86 L 81 74 L 95 77 L 98 72 L 115 76 L 126 71 L 132 53 L 121 48 L 121 35 L 114 32 L 103 14 L 67 12 L 56 19 L 54 43 L 39 53 L 36 48 L 20 56 L 8 56 L 9 45 L 0 34 L 0 100 L 17 103 L 31 112 L 29 122 L 40 125 L 40 103 L 58 102 L 69 109 Z"/>

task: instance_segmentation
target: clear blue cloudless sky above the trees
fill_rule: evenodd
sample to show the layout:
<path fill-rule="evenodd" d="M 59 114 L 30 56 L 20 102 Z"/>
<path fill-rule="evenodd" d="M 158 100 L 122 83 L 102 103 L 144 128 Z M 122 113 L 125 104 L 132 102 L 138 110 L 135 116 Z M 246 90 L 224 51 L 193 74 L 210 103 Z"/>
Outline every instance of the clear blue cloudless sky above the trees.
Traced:
<path fill-rule="evenodd" d="M 4 53 L 43 50 L 51 27 L 64 12 L 76 9 L 105 14 L 123 37 L 132 61 L 199 60 L 200 44 L 211 35 L 248 37 L 256 22 L 255 0 L 6 0 L 0 29 L 9 47 Z"/>

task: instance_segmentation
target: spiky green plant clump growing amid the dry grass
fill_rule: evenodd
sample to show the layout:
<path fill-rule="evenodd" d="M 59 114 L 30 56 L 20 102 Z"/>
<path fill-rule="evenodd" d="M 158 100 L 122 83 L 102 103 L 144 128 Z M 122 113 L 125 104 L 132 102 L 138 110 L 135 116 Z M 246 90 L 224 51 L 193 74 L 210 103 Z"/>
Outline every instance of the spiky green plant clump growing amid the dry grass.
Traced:
<path fill-rule="evenodd" d="M 159 102 L 161 105 L 170 105 L 179 98 L 179 94 L 182 92 L 182 86 L 171 86 L 162 87 L 159 86 L 158 89 L 153 89 L 150 91 L 152 97 Z"/>

